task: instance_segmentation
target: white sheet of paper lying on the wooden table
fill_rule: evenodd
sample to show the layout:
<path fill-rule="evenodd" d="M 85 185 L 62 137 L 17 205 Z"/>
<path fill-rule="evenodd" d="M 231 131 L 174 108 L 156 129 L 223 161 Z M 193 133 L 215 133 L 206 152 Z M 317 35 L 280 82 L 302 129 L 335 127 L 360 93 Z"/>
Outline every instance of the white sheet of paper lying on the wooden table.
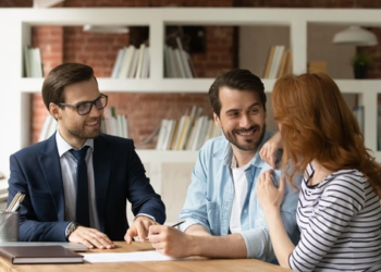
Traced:
<path fill-rule="evenodd" d="M 127 254 L 83 254 L 87 262 L 132 262 L 132 261 L 173 261 L 171 257 L 163 256 L 157 251 L 139 251 Z"/>

